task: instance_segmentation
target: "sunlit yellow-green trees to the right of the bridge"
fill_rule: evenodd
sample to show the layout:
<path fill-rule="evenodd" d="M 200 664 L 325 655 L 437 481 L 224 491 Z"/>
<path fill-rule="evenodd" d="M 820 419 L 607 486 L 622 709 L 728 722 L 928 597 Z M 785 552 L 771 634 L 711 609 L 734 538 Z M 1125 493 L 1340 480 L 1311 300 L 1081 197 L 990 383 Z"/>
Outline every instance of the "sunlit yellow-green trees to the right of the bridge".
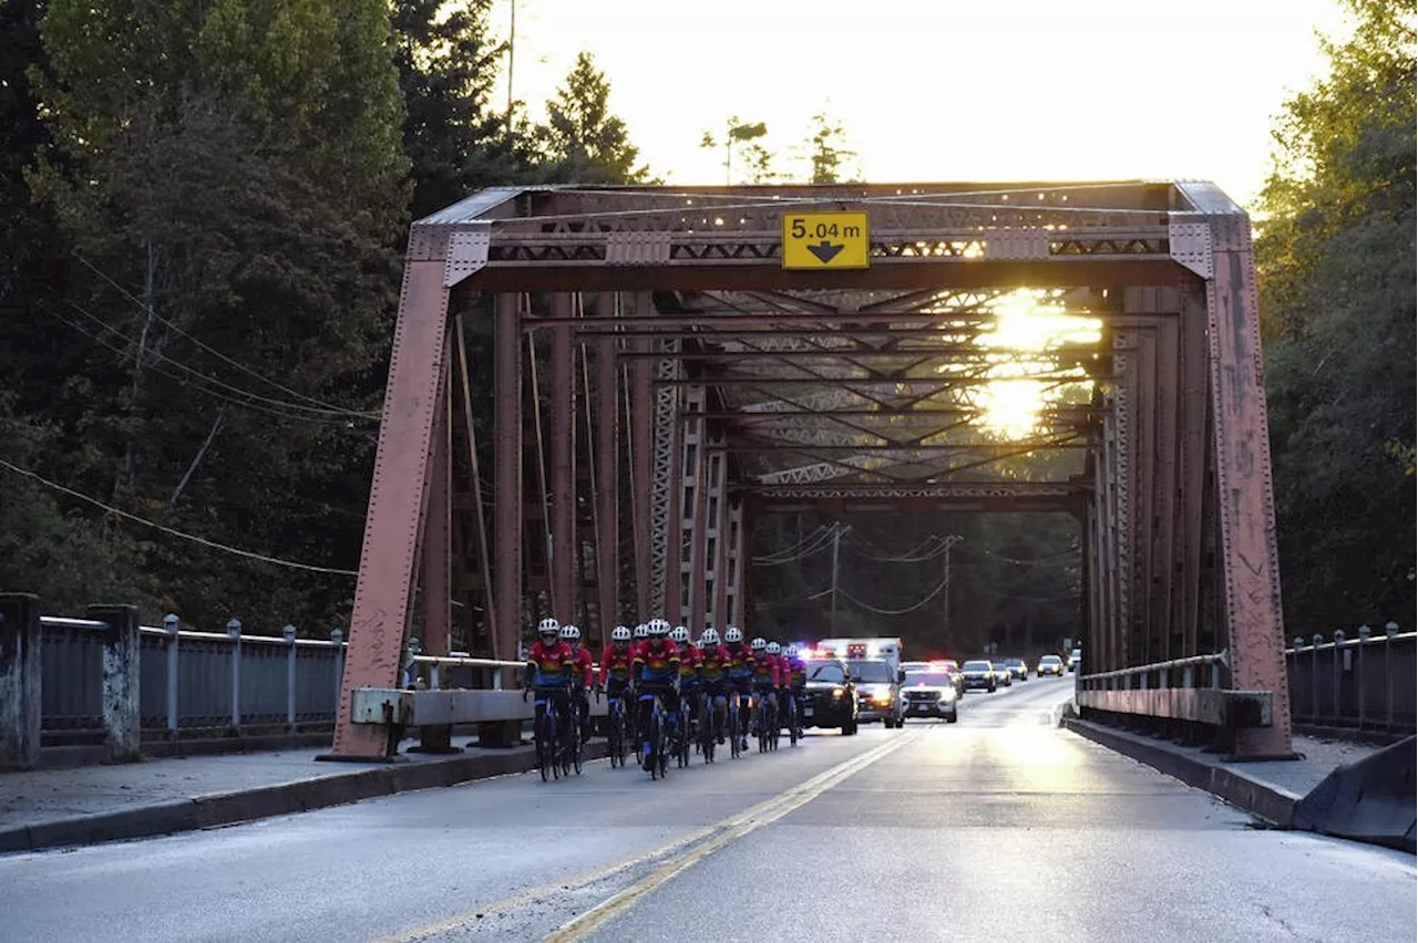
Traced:
<path fill-rule="evenodd" d="M 1258 261 L 1288 624 L 1418 617 L 1418 3 L 1358 28 L 1289 102 Z M 1405 462 L 1408 467 L 1405 469 Z"/>

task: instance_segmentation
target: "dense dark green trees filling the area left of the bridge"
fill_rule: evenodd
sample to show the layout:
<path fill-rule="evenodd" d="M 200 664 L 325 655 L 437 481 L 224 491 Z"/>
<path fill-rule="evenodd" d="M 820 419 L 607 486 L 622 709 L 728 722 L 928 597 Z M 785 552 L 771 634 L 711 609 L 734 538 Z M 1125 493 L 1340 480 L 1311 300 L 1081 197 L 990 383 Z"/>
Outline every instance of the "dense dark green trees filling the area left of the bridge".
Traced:
<path fill-rule="evenodd" d="M 491 108 L 489 8 L 3 7 L 0 459 L 72 491 L 0 469 L 0 585 L 340 624 L 410 211 L 635 157 L 588 59 L 556 135 Z"/>

